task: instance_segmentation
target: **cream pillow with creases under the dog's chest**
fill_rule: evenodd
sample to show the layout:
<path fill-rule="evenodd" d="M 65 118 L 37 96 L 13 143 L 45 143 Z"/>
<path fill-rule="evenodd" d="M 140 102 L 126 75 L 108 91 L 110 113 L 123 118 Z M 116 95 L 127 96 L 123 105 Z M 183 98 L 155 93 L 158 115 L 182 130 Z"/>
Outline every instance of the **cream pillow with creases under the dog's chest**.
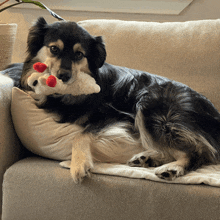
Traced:
<path fill-rule="evenodd" d="M 50 159 L 71 159 L 73 134 L 80 126 L 55 122 L 55 115 L 39 109 L 30 95 L 16 87 L 11 113 L 17 135 L 28 150 Z"/>

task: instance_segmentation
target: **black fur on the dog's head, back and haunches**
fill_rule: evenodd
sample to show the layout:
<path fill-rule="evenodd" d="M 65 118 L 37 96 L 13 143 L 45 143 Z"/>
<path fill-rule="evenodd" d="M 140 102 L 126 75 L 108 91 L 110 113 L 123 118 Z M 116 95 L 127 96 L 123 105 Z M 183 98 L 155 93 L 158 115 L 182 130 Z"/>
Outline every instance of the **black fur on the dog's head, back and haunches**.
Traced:
<path fill-rule="evenodd" d="M 51 95 L 41 108 L 58 113 L 61 123 L 74 123 L 86 115 L 87 120 L 81 125 L 84 132 L 93 134 L 121 121 L 134 125 L 137 113 L 141 112 L 144 129 L 162 146 L 158 150 L 175 149 L 188 155 L 190 162 L 186 170 L 219 160 L 220 114 L 207 98 L 167 78 L 105 63 L 102 38 L 91 36 L 74 22 L 48 25 L 43 18 L 38 20 L 29 33 L 22 78 L 37 52 L 58 39 L 67 45 L 62 56 L 71 62 L 74 61 L 71 48 L 76 43 L 82 45 L 91 75 L 101 92 L 77 97 Z M 21 87 L 27 89 L 24 83 Z M 215 149 L 214 153 L 205 147 L 204 140 Z"/>

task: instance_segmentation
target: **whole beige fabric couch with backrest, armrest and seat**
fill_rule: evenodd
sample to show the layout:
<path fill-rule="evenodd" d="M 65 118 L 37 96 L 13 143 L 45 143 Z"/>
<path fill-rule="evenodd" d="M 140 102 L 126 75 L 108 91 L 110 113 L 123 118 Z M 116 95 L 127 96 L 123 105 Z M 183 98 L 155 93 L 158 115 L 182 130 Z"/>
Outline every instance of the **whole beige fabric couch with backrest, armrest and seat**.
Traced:
<path fill-rule="evenodd" d="M 104 36 L 107 62 L 183 82 L 220 110 L 220 20 L 80 24 L 91 34 Z M 75 185 L 58 161 L 35 155 L 23 158 L 10 116 L 12 86 L 10 79 L 0 76 L 3 220 L 220 219 L 217 187 L 97 174 Z"/>

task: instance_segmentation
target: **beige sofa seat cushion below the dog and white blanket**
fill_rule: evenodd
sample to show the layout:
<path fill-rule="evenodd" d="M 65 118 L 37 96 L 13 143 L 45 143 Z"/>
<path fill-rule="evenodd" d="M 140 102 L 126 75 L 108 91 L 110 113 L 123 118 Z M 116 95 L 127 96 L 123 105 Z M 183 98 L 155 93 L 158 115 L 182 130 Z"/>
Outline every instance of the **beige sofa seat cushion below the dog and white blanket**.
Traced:
<path fill-rule="evenodd" d="M 3 220 L 219 219 L 219 188 L 93 174 L 74 184 L 59 162 L 29 157 L 4 175 Z"/>

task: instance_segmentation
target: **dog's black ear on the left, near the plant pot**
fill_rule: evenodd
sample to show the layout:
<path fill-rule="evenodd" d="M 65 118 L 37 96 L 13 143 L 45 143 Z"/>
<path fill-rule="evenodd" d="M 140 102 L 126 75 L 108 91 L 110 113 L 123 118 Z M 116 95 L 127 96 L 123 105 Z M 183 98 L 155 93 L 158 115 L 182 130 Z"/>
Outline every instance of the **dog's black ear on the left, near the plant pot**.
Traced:
<path fill-rule="evenodd" d="M 35 57 L 38 51 L 43 47 L 47 28 L 47 22 L 43 17 L 38 18 L 37 22 L 31 27 L 27 39 L 27 60 Z"/>

